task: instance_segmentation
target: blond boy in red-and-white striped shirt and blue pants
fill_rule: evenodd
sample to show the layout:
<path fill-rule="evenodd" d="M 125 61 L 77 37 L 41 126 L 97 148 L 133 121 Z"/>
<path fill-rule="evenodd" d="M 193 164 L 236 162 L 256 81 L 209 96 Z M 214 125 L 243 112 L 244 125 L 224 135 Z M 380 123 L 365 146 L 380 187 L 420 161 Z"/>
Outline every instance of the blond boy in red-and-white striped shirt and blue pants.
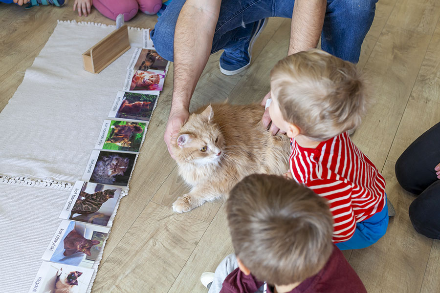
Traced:
<path fill-rule="evenodd" d="M 269 114 L 291 138 L 296 182 L 330 203 L 333 242 L 365 248 L 388 227 L 385 180 L 351 141 L 366 109 L 365 86 L 353 63 L 313 49 L 287 56 L 270 73 Z"/>

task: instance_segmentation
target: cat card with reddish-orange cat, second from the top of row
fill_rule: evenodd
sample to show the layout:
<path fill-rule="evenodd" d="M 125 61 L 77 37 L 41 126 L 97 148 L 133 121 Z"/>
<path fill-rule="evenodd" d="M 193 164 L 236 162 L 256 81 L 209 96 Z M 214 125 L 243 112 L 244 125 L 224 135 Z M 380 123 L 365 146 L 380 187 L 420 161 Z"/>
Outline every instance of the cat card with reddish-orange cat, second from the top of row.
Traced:
<path fill-rule="evenodd" d="M 122 90 L 161 91 L 165 80 L 165 72 L 127 70 L 127 76 Z"/>

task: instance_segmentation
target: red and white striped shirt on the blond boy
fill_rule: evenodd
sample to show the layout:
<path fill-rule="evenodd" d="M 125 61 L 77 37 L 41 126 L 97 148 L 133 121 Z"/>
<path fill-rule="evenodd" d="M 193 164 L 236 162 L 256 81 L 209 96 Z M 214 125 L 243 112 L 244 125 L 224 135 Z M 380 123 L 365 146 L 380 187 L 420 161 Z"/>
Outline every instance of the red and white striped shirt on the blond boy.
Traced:
<path fill-rule="evenodd" d="M 316 148 L 299 146 L 291 139 L 290 171 L 330 203 L 333 242 L 349 240 L 356 223 L 385 206 L 385 179 L 347 132 L 321 142 Z"/>

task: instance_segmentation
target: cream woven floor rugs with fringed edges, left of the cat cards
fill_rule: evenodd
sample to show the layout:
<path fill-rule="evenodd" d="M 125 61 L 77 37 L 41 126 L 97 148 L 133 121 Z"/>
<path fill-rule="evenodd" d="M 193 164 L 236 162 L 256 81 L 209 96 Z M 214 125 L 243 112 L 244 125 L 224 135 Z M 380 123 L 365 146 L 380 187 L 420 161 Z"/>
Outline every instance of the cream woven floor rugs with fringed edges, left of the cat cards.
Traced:
<path fill-rule="evenodd" d="M 99 74 L 85 71 L 82 53 L 114 29 L 58 21 L 0 113 L 0 292 L 29 291 L 69 190 L 81 180 L 122 89 L 134 48 L 142 47 L 142 30 L 130 28 L 129 51 Z"/>

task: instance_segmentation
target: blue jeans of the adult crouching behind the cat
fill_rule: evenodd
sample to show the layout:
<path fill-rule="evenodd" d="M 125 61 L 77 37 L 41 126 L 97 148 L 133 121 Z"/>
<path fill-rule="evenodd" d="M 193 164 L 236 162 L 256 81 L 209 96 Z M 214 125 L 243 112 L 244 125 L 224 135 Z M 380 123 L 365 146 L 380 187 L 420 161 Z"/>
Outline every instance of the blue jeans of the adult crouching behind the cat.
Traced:
<path fill-rule="evenodd" d="M 357 63 L 365 35 L 374 19 L 377 0 L 327 0 L 321 48 L 341 59 Z M 173 0 L 158 18 L 151 38 L 163 58 L 174 60 L 174 31 L 185 0 Z M 294 0 L 222 0 L 211 54 L 232 48 L 250 30 L 243 24 L 267 17 L 291 18 Z M 197 32 L 195 32 L 197 33 Z"/>

